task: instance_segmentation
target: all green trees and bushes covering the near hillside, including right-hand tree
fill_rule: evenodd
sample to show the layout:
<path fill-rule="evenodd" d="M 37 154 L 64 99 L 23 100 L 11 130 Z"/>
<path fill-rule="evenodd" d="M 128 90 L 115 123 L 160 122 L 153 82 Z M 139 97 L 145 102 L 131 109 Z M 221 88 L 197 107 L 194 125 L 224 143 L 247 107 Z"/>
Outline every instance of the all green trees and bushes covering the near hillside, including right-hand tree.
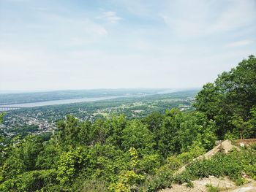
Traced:
<path fill-rule="evenodd" d="M 209 175 L 242 185 L 244 173 L 256 180 L 256 145 L 192 161 L 217 140 L 256 138 L 255 56 L 203 85 L 193 107 L 138 118 L 67 115 L 50 137 L 1 135 L 0 191 L 158 191 Z"/>

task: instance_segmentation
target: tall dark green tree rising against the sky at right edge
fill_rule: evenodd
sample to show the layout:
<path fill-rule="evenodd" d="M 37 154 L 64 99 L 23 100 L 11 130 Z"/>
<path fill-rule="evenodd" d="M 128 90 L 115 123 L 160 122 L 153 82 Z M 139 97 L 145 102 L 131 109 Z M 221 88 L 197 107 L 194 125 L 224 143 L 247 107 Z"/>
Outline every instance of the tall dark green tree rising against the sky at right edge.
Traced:
<path fill-rule="evenodd" d="M 256 58 L 250 55 L 203 86 L 195 107 L 217 124 L 219 138 L 256 137 Z"/>

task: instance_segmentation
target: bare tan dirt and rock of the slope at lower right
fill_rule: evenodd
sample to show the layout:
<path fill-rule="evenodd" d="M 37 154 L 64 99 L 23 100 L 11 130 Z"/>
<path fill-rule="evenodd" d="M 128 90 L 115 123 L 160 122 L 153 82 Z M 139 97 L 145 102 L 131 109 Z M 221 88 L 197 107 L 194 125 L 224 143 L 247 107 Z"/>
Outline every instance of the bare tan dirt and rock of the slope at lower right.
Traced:
<path fill-rule="evenodd" d="M 256 143 L 256 139 L 238 139 L 234 141 L 235 145 L 232 145 L 232 143 L 229 140 L 225 141 L 219 141 L 219 144 L 214 147 L 212 150 L 209 150 L 207 153 L 198 156 L 197 158 L 194 158 L 192 161 L 200 161 L 200 160 L 206 160 L 212 158 L 214 155 L 217 155 L 218 153 L 230 153 L 232 150 L 241 151 L 240 147 L 236 146 L 246 146 L 249 147 L 249 145 L 254 145 Z M 186 167 L 189 166 L 189 164 L 186 164 L 182 166 L 180 169 L 178 169 L 177 172 L 174 173 L 174 175 L 182 174 L 182 172 L 186 171 Z M 203 167 L 202 167 L 203 169 Z M 243 175 L 244 180 L 246 180 L 246 184 L 242 186 L 237 186 L 236 183 L 234 183 L 232 180 L 230 180 L 229 177 L 203 177 L 198 180 L 191 181 L 192 184 L 188 183 L 182 183 L 177 184 L 174 183 L 171 185 L 171 188 L 166 188 L 164 190 L 165 192 L 197 192 L 197 191 L 232 191 L 232 192 L 251 192 L 256 191 L 256 181 L 250 178 L 247 174 Z M 189 187 L 190 186 L 190 187 Z"/>

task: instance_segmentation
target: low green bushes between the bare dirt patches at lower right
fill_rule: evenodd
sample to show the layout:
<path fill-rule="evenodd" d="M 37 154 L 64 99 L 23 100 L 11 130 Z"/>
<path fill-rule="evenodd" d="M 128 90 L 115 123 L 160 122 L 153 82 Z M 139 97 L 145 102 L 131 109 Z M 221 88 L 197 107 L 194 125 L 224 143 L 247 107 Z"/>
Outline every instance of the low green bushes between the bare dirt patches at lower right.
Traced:
<path fill-rule="evenodd" d="M 217 154 L 211 159 L 195 161 L 187 166 L 186 171 L 176 176 L 176 182 L 184 183 L 189 180 L 208 177 L 228 176 L 237 185 L 242 185 L 244 179 L 242 173 L 255 178 L 256 153 L 254 150 L 233 151 L 229 154 Z"/>

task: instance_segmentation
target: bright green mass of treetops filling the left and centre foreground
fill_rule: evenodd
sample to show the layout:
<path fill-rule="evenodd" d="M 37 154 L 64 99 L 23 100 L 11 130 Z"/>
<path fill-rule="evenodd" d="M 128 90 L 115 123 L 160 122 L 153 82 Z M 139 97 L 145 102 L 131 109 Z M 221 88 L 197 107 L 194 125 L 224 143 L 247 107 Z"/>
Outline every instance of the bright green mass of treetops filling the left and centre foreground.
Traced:
<path fill-rule="evenodd" d="M 190 155 L 189 149 L 203 153 L 201 149 L 210 149 L 216 139 L 214 123 L 205 115 L 177 109 L 142 119 L 121 115 L 94 123 L 68 115 L 58 128 L 48 141 L 29 136 L 5 147 L 0 189 L 87 191 L 90 185 L 108 191 L 154 191 L 182 161 L 198 155 Z M 170 157 L 179 153 L 183 156 L 173 165 Z M 166 172 L 162 164 L 173 168 Z M 150 182 L 154 177 L 157 186 Z"/>

